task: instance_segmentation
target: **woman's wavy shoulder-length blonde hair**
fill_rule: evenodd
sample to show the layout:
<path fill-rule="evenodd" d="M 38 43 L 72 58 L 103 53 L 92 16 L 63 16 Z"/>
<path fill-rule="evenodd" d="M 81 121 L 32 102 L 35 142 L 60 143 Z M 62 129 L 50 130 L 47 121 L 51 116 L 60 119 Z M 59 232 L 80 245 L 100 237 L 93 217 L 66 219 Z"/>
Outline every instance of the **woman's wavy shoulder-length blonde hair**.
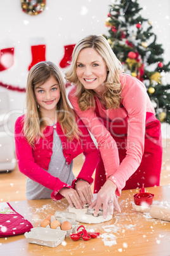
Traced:
<path fill-rule="evenodd" d="M 74 83 L 76 86 L 75 96 L 79 98 L 79 108 L 82 111 L 87 110 L 90 106 L 95 108 L 95 92 L 93 90 L 85 89 L 76 74 L 77 57 L 84 48 L 94 48 L 105 61 L 108 74 L 105 81 L 106 91 L 103 93 L 103 96 L 105 97 L 107 108 L 118 108 L 121 103 L 122 87 L 119 75 L 121 75 L 123 71 L 122 65 L 115 56 L 115 53 L 112 51 L 107 39 L 103 36 L 96 35 L 87 36 L 75 45 L 72 53 L 72 62 L 65 73 L 65 79 Z"/>

